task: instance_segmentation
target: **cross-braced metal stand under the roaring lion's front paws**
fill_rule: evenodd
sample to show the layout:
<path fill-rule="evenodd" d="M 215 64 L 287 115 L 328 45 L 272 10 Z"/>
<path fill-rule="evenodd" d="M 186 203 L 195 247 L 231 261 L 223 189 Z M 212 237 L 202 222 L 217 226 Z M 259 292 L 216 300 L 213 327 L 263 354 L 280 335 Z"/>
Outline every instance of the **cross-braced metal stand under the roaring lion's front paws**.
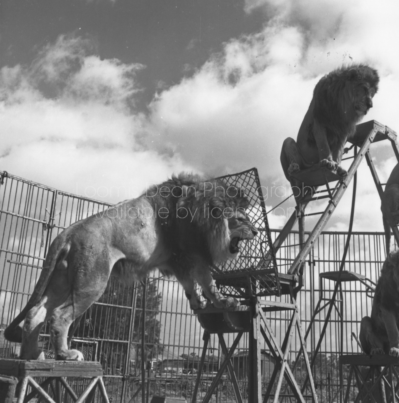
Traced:
<path fill-rule="evenodd" d="M 249 274 L 247 274 L 247 276 L 249 276 Z M 314 382 L 310 370 L 310 362 L 308 359 L 305 339 L 300 322 L 300 316 L 298 314 L 298 305 L 296 304 L 296 300 L 294 297 L 295 285 L 295 282 L 292 282 L 292 284 L 289 285 L 291 303 L 281 301 L 266 301 L 261 300 L 256 296 L 252 296 L 250 299 L 245 301 L 247 305 L 231 308 L 227 311 L 216 308 L 207 308 L 204 310 L 195 311 L 198 321 L 205 329 L 205 333 L 203 337 L 204 346 L 201 355 L 201 361 L 198 366 L 196 384 L 192 394 L 192 403 L 196 402 L 198 386 L 201 382 L 201 374 L 203 371 L 210 334 L 218 335 L 221 351 L 224 356 L 224 361 L 219 367 L 219 370 L 205 397 L 203 398 L 202 403 L 208 403 L 210 401 L 212 394 L 214 393 L 215 388 L 217 387 L 217 384 L 221 380 L 221 376 L 226 369 L 229 374 L 229 380 L 233 386 L 234 396 L 237 403 L 243 402 L 236 374 L 233 370 L 231 358 L 244 332 L 248 332 L 249 335 L 248 402 L 266 403 L 267 401 L 269 401 L 270 397 L 273 397 L 273 402 L 277 403 L 279 401 L 279 397 L 282 396 L 281 387 L 283 384 L 283 380 L 285 379 L 287 385 L 291 389 L 291 394 L 289 394 L 289 396 L 294 397 L 297 401 L 305 403 L 305 399 L 300 390 L 300 387 L 295 379 L 294 374 L 291 371 L 290 366 L 288 365 L 288 355 L 291 352 L 291 341 L 296 331 L 300 339 L 301 350 L 304 352 L 303 356 L 306 363 L 306 373 L 310 379 L 310 397 L 312 397 L 312 401 L 317 403 L 316 389 L 314 387 Z M 281 346 L 270 326 L 268 318 L 266 317 L 266 312 L 276 311 L 291 312 L 289 325 Z M 224 333 L 238 333 L 236 339 L 229 349 L 227 349 L 227 346 L 225 344 L 225 340 L 223 337 Z M 262 337 L 269 347 L 271 355 L 275 359 L 275 367 L 263 399 L 260 370 L 260 340 Z M 273 392 L 275 380 L 277 380 L 277 384 Z M 284 393 L 284 395 L 286 394 Z"/>

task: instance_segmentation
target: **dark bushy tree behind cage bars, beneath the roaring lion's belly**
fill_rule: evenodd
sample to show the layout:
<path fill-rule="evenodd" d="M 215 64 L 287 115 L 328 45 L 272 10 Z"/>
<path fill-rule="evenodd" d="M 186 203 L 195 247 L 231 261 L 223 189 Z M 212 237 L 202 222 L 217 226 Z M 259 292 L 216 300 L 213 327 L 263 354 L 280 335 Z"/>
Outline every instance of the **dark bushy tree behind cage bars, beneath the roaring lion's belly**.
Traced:
<path fill-rule="evenodd" d="M 85 312 L 79 322 L 78 329 L 74 332 L 74 337 L 101 339 L 98 342 L 97 359 L 103 363 L 104 370 L 107 369 L 106 373 L 117 374 L 124 370 L 128 346 L 126 343 L 118 343 L 118 341 L 127 341 L 130 329 L 132 329 L 129 346 L 130 360 L 134 361 L 134 367 L 140 368 L 143 326 L 142 295 L 143 286 L 140 283 L 134 283 L 128 287 L 111 278 L 98 303 L 93 304 Z M 157 319 L 161 299 L 162 294 L 158 293 L 157 283 L 151 279 L 147 280 L 146 361 L 151 361 L 163 351 L 163 346 L 159 345 L 161 324 Z M 132 305 L 134 306 L 134 317 L 132 326 L 130 326 Z"/>

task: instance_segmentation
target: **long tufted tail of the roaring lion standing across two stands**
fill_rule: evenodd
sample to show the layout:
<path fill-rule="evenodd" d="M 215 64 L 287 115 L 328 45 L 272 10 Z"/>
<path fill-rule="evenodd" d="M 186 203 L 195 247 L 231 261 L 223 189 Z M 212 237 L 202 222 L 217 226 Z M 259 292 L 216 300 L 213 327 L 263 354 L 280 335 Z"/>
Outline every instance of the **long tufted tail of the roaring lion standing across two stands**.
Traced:
<path fill-rule="evenodd" d="M 59 264 L 65 265 L 66 264 L 66 257 L 68 256 L 68 252 L 70 250 L 70 242 L 66 242 L 58 256 L 54 262 L 54 259 L 50 258 L 49 261 L 46 259 L 43 265 L 43 269 L 41 270 L 39 280 L 37 280 L 35 289 L 29 301 L 27 302 L 26 306 L 23 310 L 17 315 L 17 317 L 7 326 L 4 330 L 4 337 L 11 341 L 12 343 L 21 343 L 22 342 L 22 328 L 18 326 L 26 317 L 31 308 L 33 308 L 40 300 L 41 296 L 44 293 L 45 288 L 48 285 L 50 277 L 54 272 L 54 268 Z M 48 255 L 49 256 L 49 255 Z"/>

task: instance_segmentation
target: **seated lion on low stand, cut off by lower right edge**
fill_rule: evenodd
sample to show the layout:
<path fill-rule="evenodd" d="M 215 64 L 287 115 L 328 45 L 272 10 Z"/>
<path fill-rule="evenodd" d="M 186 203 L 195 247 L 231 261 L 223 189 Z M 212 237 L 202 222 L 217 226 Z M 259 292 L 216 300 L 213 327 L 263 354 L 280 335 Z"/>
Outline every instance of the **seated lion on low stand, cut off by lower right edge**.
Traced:
<path fill-rule="evenodd" d="M 359 340 L 366 354 L 399 357 L 399 251 L 382 266 L 373 298 L 371 317 L 360 322 Z"/>

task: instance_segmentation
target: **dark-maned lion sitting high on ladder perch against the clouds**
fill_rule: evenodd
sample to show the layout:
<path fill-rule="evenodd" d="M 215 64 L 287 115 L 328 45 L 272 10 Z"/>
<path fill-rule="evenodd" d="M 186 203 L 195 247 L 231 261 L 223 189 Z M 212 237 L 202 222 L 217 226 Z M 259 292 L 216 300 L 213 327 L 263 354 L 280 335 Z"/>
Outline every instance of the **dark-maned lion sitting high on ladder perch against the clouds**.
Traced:
<path fill-rule="evenodd" d="M 302 183 L 291 174 L 314 164 L 347 175 L 340 165 L 344 145 L 372 108 L 378 81 L 377 71 L 364 64 L 342 66 L 318 81 L 297 140 L 288 137 L 281 150 L 281 166 L 292 186 Z"/>

